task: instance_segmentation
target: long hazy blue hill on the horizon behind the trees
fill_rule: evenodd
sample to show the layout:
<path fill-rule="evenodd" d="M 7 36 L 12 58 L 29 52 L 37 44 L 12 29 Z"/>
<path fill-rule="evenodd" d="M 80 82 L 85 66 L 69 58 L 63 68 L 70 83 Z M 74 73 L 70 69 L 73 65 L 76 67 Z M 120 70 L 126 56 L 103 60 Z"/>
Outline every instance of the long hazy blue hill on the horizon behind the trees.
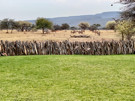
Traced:
<path fill-rule="evenodd" d="M 112 21 L 112 18 L 119 18 L 120 12 L 103 12 L 95 15 L 81 15 L 81 16 L 69 16 L 69 17 L 57 17 L 48 18 L 54 24 L 61 25 L 62 23 L 68 23 L 70 26 L 77 26 L 80 22 L 89 22 L 92 24 L 101 24 L 105 27 L 106 22 Z M 29 20 L 31 23 L 35 23 L 35 20 Z"/>

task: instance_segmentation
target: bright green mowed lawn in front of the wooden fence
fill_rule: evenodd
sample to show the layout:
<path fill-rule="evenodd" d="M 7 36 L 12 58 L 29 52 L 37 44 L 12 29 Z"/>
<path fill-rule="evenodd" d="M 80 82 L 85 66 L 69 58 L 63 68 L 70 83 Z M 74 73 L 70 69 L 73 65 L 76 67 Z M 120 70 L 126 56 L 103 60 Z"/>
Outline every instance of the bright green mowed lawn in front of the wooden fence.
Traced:
<path fill-rule="evenodd" d="M 134 101 L 135 55 L 0 57 L 0 101 Z"/>

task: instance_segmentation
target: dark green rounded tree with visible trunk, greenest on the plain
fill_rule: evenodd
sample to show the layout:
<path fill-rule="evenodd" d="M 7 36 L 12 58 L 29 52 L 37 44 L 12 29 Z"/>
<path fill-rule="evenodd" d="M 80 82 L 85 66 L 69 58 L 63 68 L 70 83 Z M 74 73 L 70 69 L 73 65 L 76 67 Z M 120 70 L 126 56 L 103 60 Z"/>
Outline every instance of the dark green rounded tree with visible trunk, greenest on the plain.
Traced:
<path fill-rule="evenodd" d="M 45 33 L 45 29 L 52 29 L 53 23 L 45 18 L 37 18 L 36 20 L 37 29 L 42 29 L 43 34 Z"/>

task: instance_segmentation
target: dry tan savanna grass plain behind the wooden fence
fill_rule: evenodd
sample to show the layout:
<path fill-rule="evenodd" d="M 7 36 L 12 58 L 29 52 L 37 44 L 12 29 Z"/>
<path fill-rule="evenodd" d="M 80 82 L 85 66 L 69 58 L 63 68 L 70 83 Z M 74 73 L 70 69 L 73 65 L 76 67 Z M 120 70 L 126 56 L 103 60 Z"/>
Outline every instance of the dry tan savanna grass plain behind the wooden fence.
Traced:
<path fill-rule="evenodd" d="M 86 42 L 86 41 L 111 41 L 111 40 L 120 40 L 120 35 L 113 30 L 100 30 L 101 35 L 98 36 L 95 33 L 86 30 L 83 34 L 72 34 L 71 30 L 63 30 L 63 31 L 57 31 L 51 32 L 49 34 L 42 34 L 41 30 L 38 30 L 37 32 L 18 32 L 16 30 L 13 31 L 11 34 L 6 33 L 5 30 L 0 31 L 0 40 L 8 40 L 8 41 L 45 41 L 45 40 L 53 40 L 53 41 L 64 41 L 69 40 L 71 42 L 74 41 L 80 41 L 80 42 Z M 90 36 L 90 38 L 71 38 L 71 35 L 87 35 Z"/>

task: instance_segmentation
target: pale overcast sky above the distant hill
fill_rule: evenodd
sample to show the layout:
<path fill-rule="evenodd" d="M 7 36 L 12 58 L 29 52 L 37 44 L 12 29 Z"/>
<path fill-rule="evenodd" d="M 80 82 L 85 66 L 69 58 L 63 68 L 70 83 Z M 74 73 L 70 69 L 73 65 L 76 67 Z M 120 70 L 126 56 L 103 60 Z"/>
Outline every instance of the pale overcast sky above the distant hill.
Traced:
<path fill-rule="evenodd" d="M 33 20 L 119 11 L 117 0 L 0 0 L 0 19 Z"/>

